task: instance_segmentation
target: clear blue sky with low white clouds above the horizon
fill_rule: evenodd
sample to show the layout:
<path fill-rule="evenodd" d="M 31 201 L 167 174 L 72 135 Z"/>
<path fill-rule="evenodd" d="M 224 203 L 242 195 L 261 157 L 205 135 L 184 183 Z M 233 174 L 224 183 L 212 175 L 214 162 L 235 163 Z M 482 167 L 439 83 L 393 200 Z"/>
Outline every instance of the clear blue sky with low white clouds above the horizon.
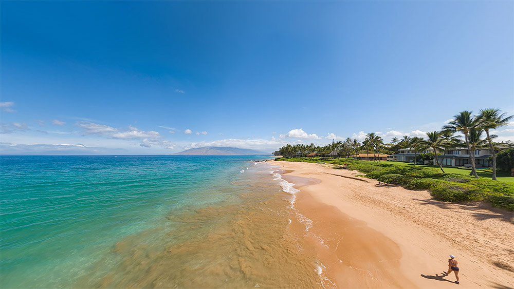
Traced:
<path fill-rule="evenodd" d="M 271 152 L 514 114 L 514 2 L 2 1 L 0 153 Z M 495 131 L 514 140 L 514 122 Z"/>

